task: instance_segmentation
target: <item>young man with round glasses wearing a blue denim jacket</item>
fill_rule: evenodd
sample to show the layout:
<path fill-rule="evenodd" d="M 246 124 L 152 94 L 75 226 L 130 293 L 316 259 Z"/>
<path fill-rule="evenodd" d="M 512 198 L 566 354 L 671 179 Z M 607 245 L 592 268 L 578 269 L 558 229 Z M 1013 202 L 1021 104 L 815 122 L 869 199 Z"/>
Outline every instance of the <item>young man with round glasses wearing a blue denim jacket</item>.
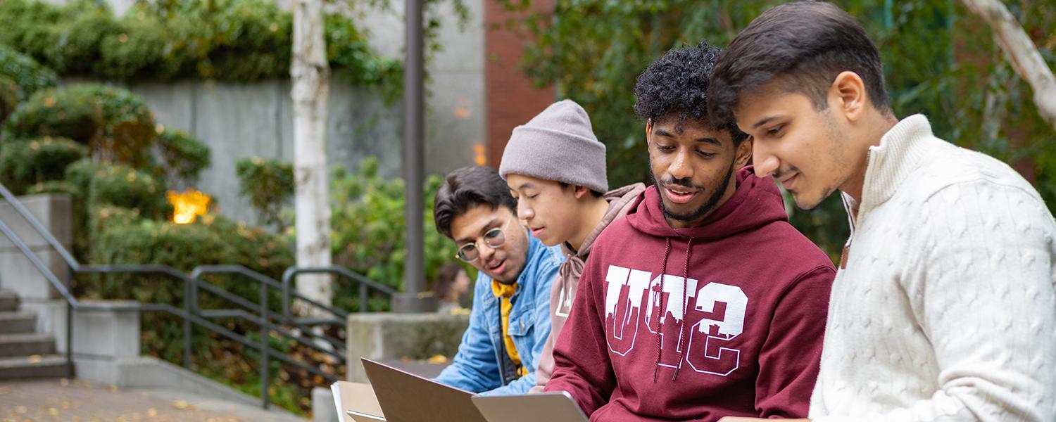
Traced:
<path fill-rule="evenodd" d="M 517 220 L 516 202 L 494 169 L 448 174 L 433 206 L 436 230 L 479 272 L 458 353 L 435 381 L 485 395 L 524 394 L 550 334 L 550 286 L 564 261 Z"/>

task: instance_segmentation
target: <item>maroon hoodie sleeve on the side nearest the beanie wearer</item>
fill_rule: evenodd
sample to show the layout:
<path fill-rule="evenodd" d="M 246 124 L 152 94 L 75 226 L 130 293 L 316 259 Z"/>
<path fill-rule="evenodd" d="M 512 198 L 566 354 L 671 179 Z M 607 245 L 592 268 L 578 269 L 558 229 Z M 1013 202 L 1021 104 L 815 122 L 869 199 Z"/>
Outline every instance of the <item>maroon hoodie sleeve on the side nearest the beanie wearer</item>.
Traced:
<path fill-rule="evenodd" d="M 616 387 L 604 321 L 598 312 L 601 288 L 596 288 L 595 284 L 601 271 L 592 265 L 597 262 L 599 260 L 588 261 L 580 279 L 572 310 L 553 347 L 553 373 L 544 389 L 567 391 L 588 416 L 608 402 Z"/>

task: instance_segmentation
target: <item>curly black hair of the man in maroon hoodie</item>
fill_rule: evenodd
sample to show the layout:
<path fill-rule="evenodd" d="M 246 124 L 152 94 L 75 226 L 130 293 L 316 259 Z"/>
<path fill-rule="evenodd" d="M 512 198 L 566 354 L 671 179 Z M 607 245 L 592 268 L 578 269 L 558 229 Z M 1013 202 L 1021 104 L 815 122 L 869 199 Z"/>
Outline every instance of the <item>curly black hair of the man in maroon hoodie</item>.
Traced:
<path fill-rule="evenodd" d="M 692 119 L 713 124 L 708 119 L 708 85 L 721 50 L 700 41 L 697 46 L 672 49 L 649 64 L 635 84 L 635 114 L 639 119 L 679 122 Z M 713 124 L 730 131 L 735 145 L 748 138 L 732 122 Z"/>

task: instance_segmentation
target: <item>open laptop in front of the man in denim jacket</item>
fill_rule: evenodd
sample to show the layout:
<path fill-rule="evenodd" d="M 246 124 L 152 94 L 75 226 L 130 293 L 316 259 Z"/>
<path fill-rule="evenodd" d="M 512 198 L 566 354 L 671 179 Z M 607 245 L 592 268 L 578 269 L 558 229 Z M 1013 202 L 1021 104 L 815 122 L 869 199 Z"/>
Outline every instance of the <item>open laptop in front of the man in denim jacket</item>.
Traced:
<path fill-rule="evenodd" d="M 487 422 L 472 392 L 408 373 L 363 358 L 363 369 L 388 422 Z M 353 415 L 356 421 L 372 415 Z M 377 418 L 377 416 L 373 416 Z M 375 419 L 376 420 L 376 419 Z"/>

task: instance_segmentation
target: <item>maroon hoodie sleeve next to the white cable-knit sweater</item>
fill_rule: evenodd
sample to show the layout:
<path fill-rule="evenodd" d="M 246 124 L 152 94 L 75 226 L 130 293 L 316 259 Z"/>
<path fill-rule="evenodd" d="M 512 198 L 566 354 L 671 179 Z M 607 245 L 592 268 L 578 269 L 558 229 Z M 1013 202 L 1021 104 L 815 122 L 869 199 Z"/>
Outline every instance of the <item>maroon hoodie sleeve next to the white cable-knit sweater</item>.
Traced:
<path fill-rule="evenodd" d="M 800 275 L 777 303 L 759 351 L 755 407 L 760 417 L 807 417 L 834 276 L 831 265 L 818 266 Z"/>

